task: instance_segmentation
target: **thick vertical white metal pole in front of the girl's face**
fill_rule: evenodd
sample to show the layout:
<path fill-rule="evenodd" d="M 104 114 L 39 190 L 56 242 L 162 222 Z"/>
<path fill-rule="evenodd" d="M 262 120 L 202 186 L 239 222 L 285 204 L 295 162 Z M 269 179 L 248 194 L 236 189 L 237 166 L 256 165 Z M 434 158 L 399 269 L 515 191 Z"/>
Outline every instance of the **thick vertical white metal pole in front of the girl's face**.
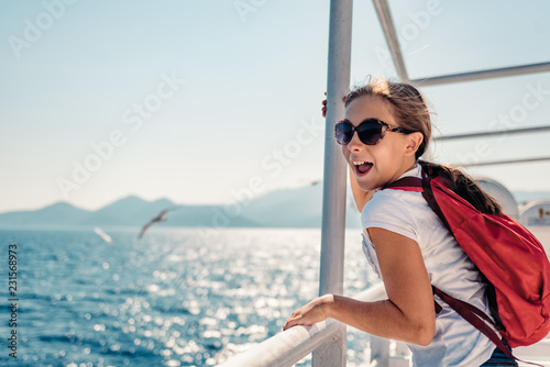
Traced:
<path fill-rule="evenodd" d="M 353 0 L 330 1 L 320 294 L 343 293 L 346 164 L 334 141 L 334 124 L 344 115 L 342 98 L 350 88 L 352 12 Z M 345 366 L 345 327 L 314 352 L 317 366 Z"/>

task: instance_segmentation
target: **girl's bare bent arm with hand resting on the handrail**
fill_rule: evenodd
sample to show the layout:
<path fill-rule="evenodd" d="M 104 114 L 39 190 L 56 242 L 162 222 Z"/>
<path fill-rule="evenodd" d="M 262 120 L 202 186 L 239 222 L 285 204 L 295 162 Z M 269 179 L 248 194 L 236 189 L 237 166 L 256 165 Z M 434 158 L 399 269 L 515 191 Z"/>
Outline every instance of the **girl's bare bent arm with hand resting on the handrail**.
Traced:
<path fill-rule="evenodd" d="M 418 244 L 387 230 L 367 230 L 388 299 L 363 302 L 326 294 L 295 311 L 284 329 L 327 318 L 382 337 L 428 345 L 436 332 L 433 294 Z"/>

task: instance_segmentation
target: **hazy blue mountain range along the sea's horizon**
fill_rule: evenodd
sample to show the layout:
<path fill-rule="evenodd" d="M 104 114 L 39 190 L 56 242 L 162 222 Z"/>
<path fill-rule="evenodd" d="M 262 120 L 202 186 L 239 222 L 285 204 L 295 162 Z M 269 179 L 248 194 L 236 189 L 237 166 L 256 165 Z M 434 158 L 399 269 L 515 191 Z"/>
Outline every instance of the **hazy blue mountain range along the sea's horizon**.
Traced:
<path fill-rule="evenodd" d="M 226 205 L 180 205 L 168 199 L 146 201 L 130 196 L 87 211 L 58 202 L 36 211 L 0 214 L 0 225 L 142 226 L 164 209 L 172 210 L 167 221 L 157 226 L 319 227 L 322 185 L 272 191 L 248 202 Z M 359 226 L 356 210 L 350 218 L 349 226 Z"/>

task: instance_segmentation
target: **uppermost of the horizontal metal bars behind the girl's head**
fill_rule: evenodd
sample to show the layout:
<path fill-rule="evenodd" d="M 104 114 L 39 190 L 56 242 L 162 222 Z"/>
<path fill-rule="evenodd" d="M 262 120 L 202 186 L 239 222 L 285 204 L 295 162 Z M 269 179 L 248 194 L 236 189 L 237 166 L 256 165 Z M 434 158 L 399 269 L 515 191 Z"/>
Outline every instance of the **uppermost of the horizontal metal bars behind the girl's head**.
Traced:
<path fill-rule="evenodd" d="M 443 85 L 443 84 L 472 81 L 472 80 L 491 79 L 491 78 L 502 78 L 502 77 L 510 77 L 510 76 L 516 76 L 516 75 L 547 73 L 547 71 L 550 71 L 550 62 L 503 67 L 503 68 L 498 68 L 498 69 L 487 69 L 487 70 L 480 70 L 480 71 L 450 74 L 450 75 L 443 75 L 443 76 L 439 76 L 439 77 L 420 78 L 420 79 L 410 80 L 410 84 L 418 86 L 418 87 L 428 87 L 428 86 L 437 86 L 437 85 Z"/>

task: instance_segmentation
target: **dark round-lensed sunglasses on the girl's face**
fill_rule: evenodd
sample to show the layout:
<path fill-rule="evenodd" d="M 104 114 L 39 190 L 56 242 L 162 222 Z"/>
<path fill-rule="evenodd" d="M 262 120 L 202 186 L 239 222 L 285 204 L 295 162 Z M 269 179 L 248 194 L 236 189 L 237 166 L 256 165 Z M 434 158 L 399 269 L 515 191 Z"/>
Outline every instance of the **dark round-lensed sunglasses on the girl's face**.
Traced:
<path fill-rule="evenodd" d="M 402 134 L 413 133 L 410 130 L 393 126 L 376 119 L 366 119 L 358 126 L 353 126 L 348 120 L 342 120 L 334 125 L 334 135 L 338 144 L 341 145 L 350 144 L 355 132 L 358 132 L 361 143 L 365 145 L 376 145 L 382 141 L 387 131 Z"/>

